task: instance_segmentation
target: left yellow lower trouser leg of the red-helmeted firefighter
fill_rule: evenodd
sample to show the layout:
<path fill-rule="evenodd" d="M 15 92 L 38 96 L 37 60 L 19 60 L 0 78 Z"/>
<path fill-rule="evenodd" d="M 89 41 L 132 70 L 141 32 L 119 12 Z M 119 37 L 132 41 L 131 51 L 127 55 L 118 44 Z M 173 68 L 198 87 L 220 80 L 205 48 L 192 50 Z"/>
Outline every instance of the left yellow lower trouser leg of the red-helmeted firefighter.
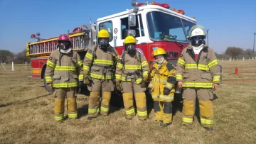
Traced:
<path fill-rule="evenodd" d="M 64 104 L 65 104 L 65 99 L 55 98 L 54 113 L 55 113 L 56 121 L 63 121 L 64 119 L 64 106 L 65 106 Z"/>

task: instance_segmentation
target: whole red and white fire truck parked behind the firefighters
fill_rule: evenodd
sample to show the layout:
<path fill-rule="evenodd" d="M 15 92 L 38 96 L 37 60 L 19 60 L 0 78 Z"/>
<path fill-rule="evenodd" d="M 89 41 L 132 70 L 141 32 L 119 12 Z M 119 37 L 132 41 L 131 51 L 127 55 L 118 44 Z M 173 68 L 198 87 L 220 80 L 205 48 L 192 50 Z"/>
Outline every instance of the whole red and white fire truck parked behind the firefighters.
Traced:
<path fill-rule="evenodd" d="M 149 62 L 150 68 L 154 64 L 153 50 L 164 48 L 167 60 L 176 65 L 183 48 L 188 45 L 188 31 L 194 25 L 194 17 L 188 17 L 182 9 L 170 9 L 169 4 L 159 4 L 155 1 L 138 3 L 132 1 L 132 9 L 127 9 L 110 16 L 97 18 L 96 23 L 74 28 L 70 36 L 73 47 L 84 59 L 92 45 L 97 45 L 97 32 L 105 29 L 110 33 L 110 45 L 116 48 L 119 55 L 124 50 L 124 38 L 133 35 L 137 40 L 137 50 L 142 52 Z M 46 61 L 50 52 L 57 49 L 57 39 L 41 39 L 40 33 L 32 34 L 31 38 L 38 39 L 35 43 L 27 43 L 26 55 L 31 58 L 31 77 L 42 79 L 47 91 L 44 73 Z"/>

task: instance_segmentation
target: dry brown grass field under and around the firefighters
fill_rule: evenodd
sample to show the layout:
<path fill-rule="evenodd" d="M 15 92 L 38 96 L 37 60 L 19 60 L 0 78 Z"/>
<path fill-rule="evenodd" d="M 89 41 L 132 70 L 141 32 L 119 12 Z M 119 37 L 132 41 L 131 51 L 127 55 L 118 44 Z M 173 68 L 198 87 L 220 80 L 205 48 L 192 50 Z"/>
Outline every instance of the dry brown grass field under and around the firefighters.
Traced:
<path fill-rule="evenodd" d="M 29 79 L 25 65 L 0 65 L 0 143 L 256 143 L 256 61 L 220 62 L 223 84 L 215 92 L 214 131 L 206 131 L 195 116 L 193 126 L 181 126 L 181 112 L 174 111 L 171 126 L 161 128 L 149 119 L 131 121 L 124 118 L 122 107 L 111 107 L 110 116 L 87 121 L 87 99 L 78 95 L 77 120 L 56 123 L 53 96 L 40 79 Z M 239 74 L 234 74 L 238 67 Z M 176 106 L 178 104 L 176 96 Z M 149 98 L 150 99 L 150 98 Z M 66 110 L 65 110 L 66 114 Z M 197 113 L 198 115 L 198 113 Z"/>

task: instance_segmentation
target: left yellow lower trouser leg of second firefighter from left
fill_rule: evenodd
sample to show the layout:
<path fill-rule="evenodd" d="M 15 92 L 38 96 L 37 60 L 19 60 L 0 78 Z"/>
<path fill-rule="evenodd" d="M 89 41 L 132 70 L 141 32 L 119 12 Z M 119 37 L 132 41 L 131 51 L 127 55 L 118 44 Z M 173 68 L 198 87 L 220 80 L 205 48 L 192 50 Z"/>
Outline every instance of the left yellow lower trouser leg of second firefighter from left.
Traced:
<path fill-rule="evenodd" d="M 99 104 L 100 104 L 100 93 L 90 92 L 88 117 L 87 117 L 88 120 L 99 116 L 99 112 L 100 112 Z"/>

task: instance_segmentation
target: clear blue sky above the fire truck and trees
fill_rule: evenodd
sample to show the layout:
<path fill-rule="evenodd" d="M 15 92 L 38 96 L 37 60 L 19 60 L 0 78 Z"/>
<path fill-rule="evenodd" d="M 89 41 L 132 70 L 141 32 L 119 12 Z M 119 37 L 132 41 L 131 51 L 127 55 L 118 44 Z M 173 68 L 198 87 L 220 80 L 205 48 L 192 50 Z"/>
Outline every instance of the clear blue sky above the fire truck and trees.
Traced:
<path fill-rule="evenodd" d="M 144 2 L 140 0 L 138 2 Z M 151 1 L 149 1 L 151 2 Z M 215 52 L 228 46 L 253 47 L 256 33 L 256 1 L 253 0 L 158 0 L 171 8 L 183 9 L 195 16 L 209 31 L 209 45 Z M 51 38 L 97 18 L 131 9 L 131 0 L 0 0 L 0 49 L 20 52 L 32 33 Z"/>

